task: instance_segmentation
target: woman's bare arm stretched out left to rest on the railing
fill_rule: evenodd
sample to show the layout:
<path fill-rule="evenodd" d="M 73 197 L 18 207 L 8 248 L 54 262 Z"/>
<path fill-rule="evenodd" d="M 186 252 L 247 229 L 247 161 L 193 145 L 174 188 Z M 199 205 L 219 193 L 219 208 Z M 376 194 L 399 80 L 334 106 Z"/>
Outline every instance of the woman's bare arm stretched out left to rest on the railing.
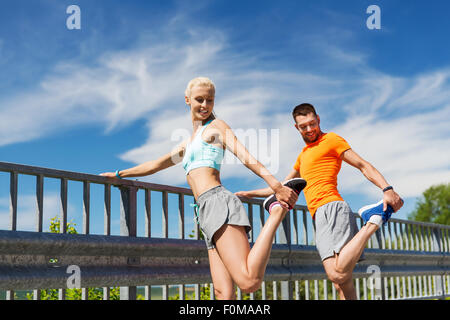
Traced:
<path fill-rule="evenodd" d="M 158 171 L 174 166 L 177 163 L 181 162 L 181 160 L 183 159 L 185 145 L 186 141 L 182 142 L 177 147 L 175 147 L 171 152 L 165 154 L 164 156 L 156 160 L 147 161 L 135 167 L 120 170 L 119 176 L 121 178 L 142 177 L 154 174 Z M 116 177 L 115 172 L 104 172 L 101 173 L 100 175 L 105 177 Z"/>

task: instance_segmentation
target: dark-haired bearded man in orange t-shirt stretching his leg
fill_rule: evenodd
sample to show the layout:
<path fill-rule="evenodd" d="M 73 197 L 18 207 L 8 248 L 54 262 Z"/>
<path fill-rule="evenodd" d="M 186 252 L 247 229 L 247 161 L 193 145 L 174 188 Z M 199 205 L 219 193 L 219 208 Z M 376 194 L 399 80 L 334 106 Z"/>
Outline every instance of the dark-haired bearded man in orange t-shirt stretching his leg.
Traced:
<path fill-rule="evenodd" d="M 390 217 L 387 212 L 398 211 L 403 206 L 403 200 L 381 173 L 354 152 L 342 137 L 333 132 L 321 131 L 320 117 L 311 104 L 296 106 L 292 116 L 295 128 L 306 146 L 285 180 L 299 177 L 306 180 L 303 192 L 309 212 L 315 220 L 315 242 L 325 272 L 339 292 L 340 299 L 356 299 L 353 269 L 360 260 L 367 241 Z M 359 169 L 369 181 L 383 190 L 383 200 L 377 204 L 380 206 L 378 212 L 366 210 L 367 208 L 360 210 L 360 214 L 363 211 L 364 214 L 372 212 L 362 216 L 366 224 L 359 231 L 352 210 L 337 190 L 337 175 L 342 160 Z M 268 197 L 271 193 L 272 190 L 266 188 L 236 194 L 251 198 Z M 276 205 L 272 199 L 273 197 L 265 201 L 265 204 L 270 202 L 270 210 Z"/>

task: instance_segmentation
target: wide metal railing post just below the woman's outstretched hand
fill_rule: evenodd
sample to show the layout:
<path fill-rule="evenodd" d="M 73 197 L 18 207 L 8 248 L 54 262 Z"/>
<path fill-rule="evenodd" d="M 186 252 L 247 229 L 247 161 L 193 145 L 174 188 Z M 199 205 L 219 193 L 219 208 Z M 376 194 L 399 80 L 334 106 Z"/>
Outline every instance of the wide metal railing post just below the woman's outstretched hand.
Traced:
<path fill-rule="evenodd" d="M 120 188 L 120 235 L 136 237 L 136 187 Z M 120 287 L 120 300 L 136 300 L 136 286 Z"/>

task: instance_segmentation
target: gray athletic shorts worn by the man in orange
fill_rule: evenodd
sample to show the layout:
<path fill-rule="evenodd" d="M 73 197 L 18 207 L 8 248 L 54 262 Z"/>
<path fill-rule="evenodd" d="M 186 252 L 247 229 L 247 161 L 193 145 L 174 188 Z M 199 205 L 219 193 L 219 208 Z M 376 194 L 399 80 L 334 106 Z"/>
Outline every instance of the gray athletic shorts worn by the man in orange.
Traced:
<path fill-rule="evenodd" d="M 315 213 L 316 247 L 325 260 L 339 253 L 358 233 L 356 219 L 345 201 L 333 201 L 320 206 Z M 364 253 L 360 257 L 363 260 Z"/>

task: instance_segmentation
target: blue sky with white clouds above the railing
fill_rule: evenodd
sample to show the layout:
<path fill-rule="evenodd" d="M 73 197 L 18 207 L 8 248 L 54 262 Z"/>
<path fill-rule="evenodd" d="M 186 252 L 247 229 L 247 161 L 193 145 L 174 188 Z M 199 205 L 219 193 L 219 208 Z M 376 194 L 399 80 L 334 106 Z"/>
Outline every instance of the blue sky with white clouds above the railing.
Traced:
<path fill-rule="evenodd" d="M 71 4 L 81 30 L 66 28 Z M 381 30 L 366 27 L 372 4 Z M 438 0 L 3 0 L 0 161 L 98 174 L 154 159 L 179 142 L 174 132 L 190 132 L 184 88 L 205 75 L 217 86 L 217 115 L 238 137 L 278 134 L 268 151 L 248 147 L 279 179 L 304 146 L 291 110 L 308 101 L 324 131 L 346 138 L 394 185 L 406 201 L 397 217 L 406 218 L 426 188 L 450 180 L 449 10 Z M 187 186 L 183 176 L 178 166 L 142 180 Z M 231 159 L 222 180 L 232 191 L 264 187 Z M 345 164 L 338 182 L 354 211 L 381 196 Z M 28 184 L 24 219 L 34 211 Z M 79 208 L 70 209 L 78 223 Z"/>

